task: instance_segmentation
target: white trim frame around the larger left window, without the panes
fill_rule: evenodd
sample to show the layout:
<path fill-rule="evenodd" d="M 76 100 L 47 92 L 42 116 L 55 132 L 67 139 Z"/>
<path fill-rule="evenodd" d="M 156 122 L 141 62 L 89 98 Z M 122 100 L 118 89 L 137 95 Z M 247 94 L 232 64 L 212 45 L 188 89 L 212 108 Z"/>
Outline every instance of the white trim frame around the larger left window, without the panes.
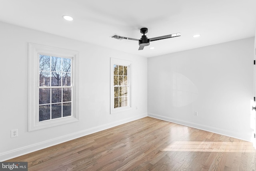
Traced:
<path fill-rule="evenodd" d="M 52 119 L 48 121 L 39 121 L 38 107 L 39 107 L 39 95 L 38 95 L 38 72 L 39 72 L 39 60 L 38 54 L 48 54 L 51 56 L 61 56 L 73 59 L 72 64 L 72 116 L 63 117 L 58 119 Z M 62 48 L 55 48 L 51 46 L 44 46 L 40 44 L 28 43 L 28 131 L 35 131 L 38 129 L 44 129 L 57 125 L 63 125 L 78 121 L 78 65 L 79 64 L 79 52 L 74 50 L 66 50 Z"/>

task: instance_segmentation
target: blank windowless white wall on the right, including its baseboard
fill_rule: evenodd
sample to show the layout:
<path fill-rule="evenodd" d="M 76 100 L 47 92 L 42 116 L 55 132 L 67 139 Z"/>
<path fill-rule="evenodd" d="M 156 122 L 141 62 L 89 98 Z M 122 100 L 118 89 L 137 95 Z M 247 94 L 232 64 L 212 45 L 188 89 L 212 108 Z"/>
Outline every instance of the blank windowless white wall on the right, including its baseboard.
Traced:
<path fill-rule="evenodd" d="M 252 141 L 253 60 L 254 38 L 148 58 L 148 115 Z"/>

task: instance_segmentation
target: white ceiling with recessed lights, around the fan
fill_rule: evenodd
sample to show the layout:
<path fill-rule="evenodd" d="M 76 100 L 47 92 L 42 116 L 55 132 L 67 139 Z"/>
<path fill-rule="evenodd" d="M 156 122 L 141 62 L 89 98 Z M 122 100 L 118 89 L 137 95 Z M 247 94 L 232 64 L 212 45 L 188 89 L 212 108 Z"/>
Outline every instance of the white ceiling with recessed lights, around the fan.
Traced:
<path fill-rule="evenodd" d="M 152 57 L 254 37 L 256 0 L 0 0 L 0 21 Z M 181 36 L 140 51 L 137 41 L 110 37 L 140 39 L 142 27 L 148 28 L 148 38 Z"/>

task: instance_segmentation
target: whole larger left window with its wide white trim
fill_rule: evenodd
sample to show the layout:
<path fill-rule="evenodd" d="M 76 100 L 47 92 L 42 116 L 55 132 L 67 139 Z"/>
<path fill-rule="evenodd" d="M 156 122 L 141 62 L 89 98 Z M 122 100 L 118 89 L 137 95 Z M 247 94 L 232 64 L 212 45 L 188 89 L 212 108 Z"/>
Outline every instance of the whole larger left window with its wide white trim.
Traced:
<path fill-rule="evenodd" d="M 28 129 L 78 121 L 78 52 L 29 43 Z"/>

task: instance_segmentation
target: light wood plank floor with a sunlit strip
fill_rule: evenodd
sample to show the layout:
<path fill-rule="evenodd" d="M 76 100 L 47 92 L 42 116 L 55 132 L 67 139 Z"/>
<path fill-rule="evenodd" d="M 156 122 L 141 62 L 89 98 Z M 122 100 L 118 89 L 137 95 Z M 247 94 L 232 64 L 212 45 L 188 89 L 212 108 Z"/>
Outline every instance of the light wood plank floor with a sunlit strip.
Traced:
<path fill-rule="evenodd" d="M 8 161 L 29 171 L 256 171 L 252 143 L 151 117 Z"/>

